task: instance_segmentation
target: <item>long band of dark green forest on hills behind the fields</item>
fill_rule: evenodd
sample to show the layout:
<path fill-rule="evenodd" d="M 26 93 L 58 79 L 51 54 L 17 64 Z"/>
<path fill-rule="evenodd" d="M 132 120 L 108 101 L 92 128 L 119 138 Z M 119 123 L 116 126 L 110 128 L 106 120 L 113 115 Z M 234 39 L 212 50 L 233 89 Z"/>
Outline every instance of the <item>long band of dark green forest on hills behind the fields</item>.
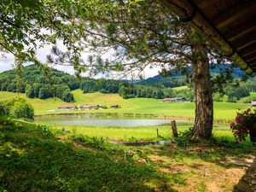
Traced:
<path fill-rule="evenodd" d="M 102 92 L 119 93 L 123 98 L 146 97 L 161 99 L 166 96 L 184 96 L 193 100 L 191 90 L 162 89 L 148 85 L 131 84 L 125 80 L 113 79 L 77 79 L 68 73 L 49 68 L 49 74 L 37 66 L 24 67 L 24 72 L 18 76 L 16 70 L 9 70 L 0 74 L 0 89 L 2 91 L 26 93 L 30 98 L 46 99 L 52 96 L 64 102 L 73 102 L 71 90 L 83 90 L 84 93 Z M 191 97 L 192 96 L 192 97 Z"/>

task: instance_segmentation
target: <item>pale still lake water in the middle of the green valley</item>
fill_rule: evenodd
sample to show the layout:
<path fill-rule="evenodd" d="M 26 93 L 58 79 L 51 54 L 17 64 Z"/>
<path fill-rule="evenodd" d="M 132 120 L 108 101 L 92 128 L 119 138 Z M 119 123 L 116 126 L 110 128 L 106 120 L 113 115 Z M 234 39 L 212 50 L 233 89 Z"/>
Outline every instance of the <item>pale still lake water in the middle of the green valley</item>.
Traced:
<path fill-rule="evenodd" d="M 148 126 L 170 123 L 171 119 L 157 119 L 157 117 L 134 117 L 110 114 L 66 114 L 39 116 L 35 119 L 39 123 L 57 125 L 106 125 L 106 126 Z"/>

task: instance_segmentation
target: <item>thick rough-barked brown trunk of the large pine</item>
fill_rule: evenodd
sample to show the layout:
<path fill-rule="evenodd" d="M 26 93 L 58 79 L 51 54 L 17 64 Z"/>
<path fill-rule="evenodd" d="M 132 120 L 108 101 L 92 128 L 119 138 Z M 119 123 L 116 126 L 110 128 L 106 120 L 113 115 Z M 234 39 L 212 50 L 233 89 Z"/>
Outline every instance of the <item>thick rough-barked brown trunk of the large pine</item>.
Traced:
<path fill-rule="evenodd" d="M 212 136 L 213 103 L 209 59 L 205 44 L 191 46 L 195 82 L 195 125 L 192 139 Z"/>

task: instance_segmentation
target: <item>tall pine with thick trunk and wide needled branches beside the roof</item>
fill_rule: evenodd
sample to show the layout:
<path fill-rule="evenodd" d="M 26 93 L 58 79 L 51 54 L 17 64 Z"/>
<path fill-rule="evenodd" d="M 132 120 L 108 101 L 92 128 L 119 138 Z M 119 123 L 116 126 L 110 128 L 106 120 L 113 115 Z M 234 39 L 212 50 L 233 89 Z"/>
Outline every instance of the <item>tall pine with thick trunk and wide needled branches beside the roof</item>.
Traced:
<path fill-rule="evenodd" d="M 172 69 L 183 72 L 193 67 L 191 78 L 195 90 L 195 126 L 193 138 L 212 136 L 213 106 L 210 62 L 223 61 L 222 55 L 211 42 L 190 26 L 172 15 L 159 0 L 150 1 L 97 1 L 94 12 L 76 13 L 75 28 L 80 50 L 90 49 L 97 53 L 113 51 L 113 61 L 103 61 L 97 55 L 88 61 L 79 55 L 62 52 L 54 47 L 49 62 L 68 64 L 79 61 L 81 70 L 91 73 L 121 71 L 119 77 L 130 75 L 143 78 L 146 67 L 160 67 L 161 74 L 168 75 Z M 91 5 L 91 4 L 90 4 Z M 87 3 L 77 4 L 90 9 Z M 93 18 L 93 19 L 92 19 Z M 86 30 L 82 30 L 86 29 Z M 88 38 L 90 37 L 90 38 Z M 121 89 L 124 92 L 124 88 Z M 143 93 L 151 97 L 151 93 Z"/>

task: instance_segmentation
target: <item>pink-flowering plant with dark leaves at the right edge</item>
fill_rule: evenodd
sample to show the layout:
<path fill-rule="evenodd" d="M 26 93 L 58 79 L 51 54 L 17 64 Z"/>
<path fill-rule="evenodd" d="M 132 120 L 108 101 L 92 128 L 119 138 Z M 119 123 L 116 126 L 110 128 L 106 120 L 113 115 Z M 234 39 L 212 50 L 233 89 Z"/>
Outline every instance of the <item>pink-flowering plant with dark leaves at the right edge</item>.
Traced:
<path fill-rule="evenodd" d="M 256 125 L 256 111 L 248 108 L 245 111 L 237 112 L 236 118 L 230 123 L 236 141 L 246 141 L 249 130 Z"/>

